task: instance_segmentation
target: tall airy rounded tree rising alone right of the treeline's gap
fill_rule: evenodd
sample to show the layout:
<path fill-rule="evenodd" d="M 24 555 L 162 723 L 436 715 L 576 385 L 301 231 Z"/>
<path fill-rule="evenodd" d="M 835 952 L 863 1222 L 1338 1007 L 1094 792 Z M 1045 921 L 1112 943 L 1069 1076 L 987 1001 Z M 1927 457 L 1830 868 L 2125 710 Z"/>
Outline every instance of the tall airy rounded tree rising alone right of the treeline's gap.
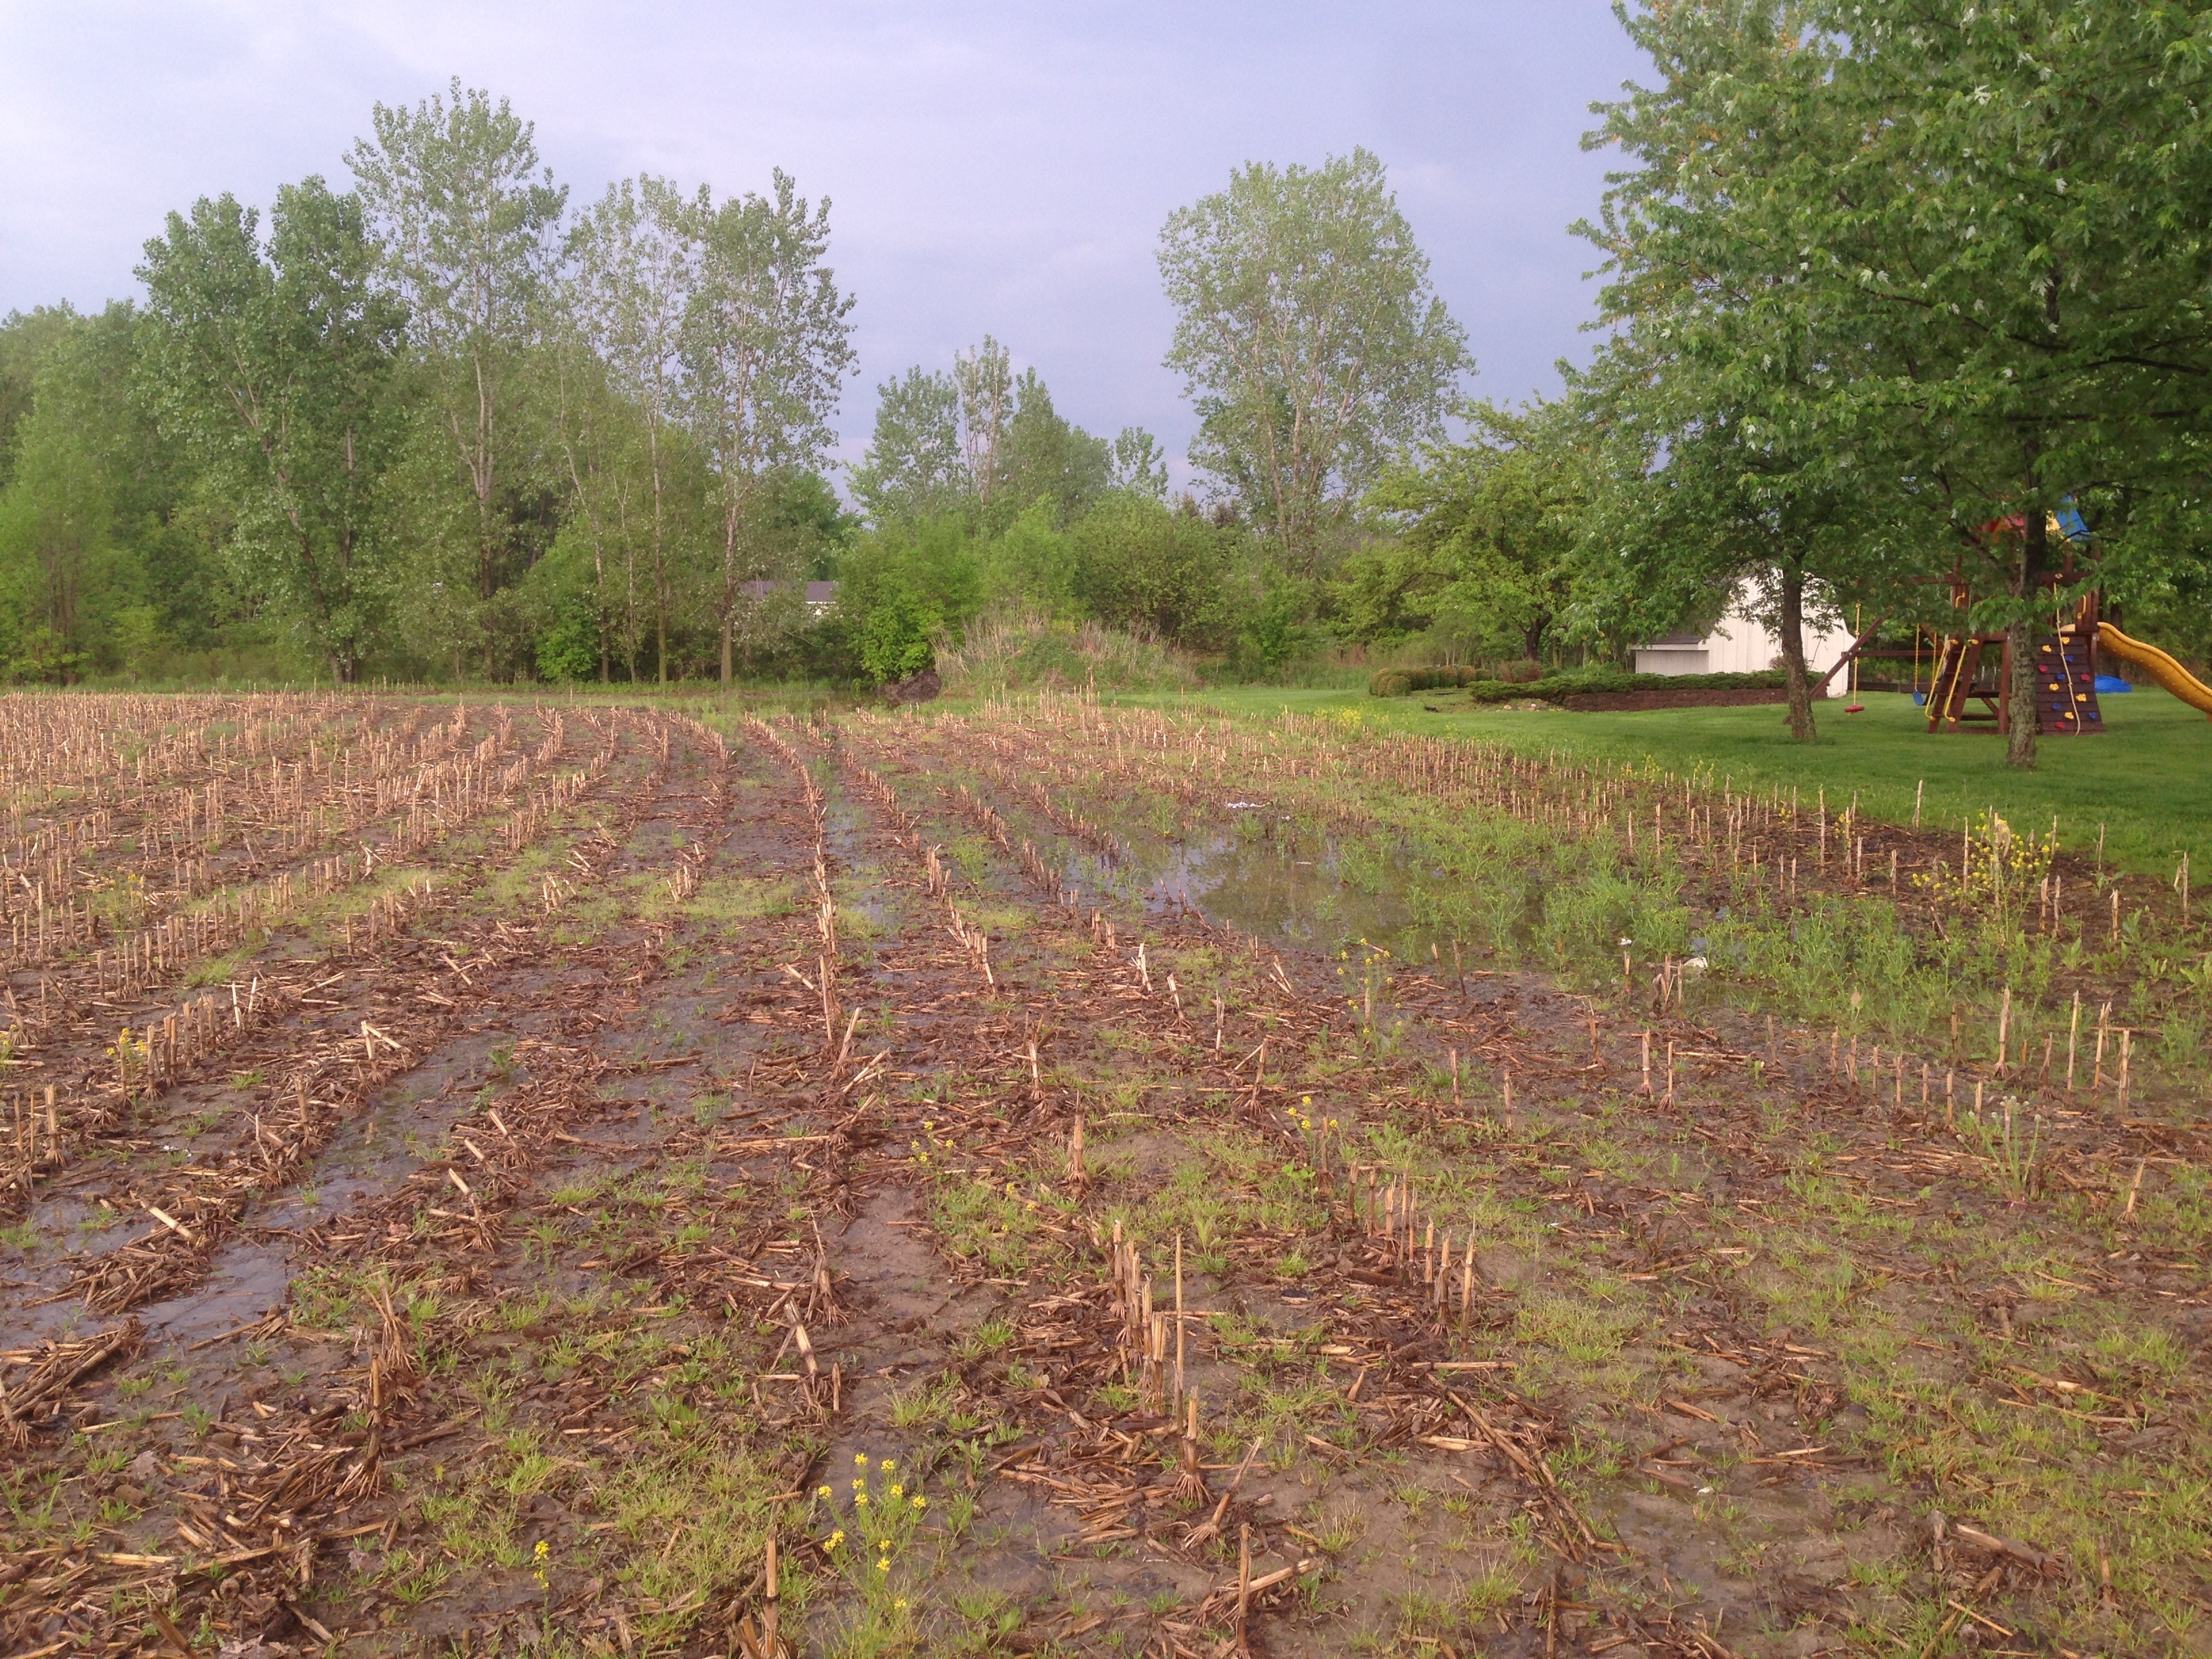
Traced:
<path fill-rule="evenodd" d="M 1250 164 L 1159 237 L 1190 460 L 1312 566 L 1323 526 L 1400 449 L 1442 436 L 1467 338 L 1367 150 Z"/>

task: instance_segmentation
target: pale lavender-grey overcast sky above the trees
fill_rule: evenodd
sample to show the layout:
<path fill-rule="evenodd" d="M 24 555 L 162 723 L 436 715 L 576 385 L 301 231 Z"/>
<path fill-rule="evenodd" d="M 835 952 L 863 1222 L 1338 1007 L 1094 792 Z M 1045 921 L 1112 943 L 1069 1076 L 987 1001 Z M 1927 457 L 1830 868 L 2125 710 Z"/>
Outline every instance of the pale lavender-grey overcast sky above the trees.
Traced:
<path fill-rule="evenodd" d="M 827 192 L 874 387 L 984 332 L 1064 416 L 1181 460 L 1159 367 L 1166 215 L 1252 161 L 1365 144 L 1467 327 L 1473 389 L 1582 358 L 1597 204 L 1588 104 L 1637 75 L 1606 0 L 1460 4 L 471 4 L 0 0 L 0 312 L 137 292 L 161 215 L 345 179 L 374 102 L 451 75 L 513 100 L 571 204 L 639 170 L 717 195 Z M 1181 476 L 1181 465 L 1177 473 Z"/>

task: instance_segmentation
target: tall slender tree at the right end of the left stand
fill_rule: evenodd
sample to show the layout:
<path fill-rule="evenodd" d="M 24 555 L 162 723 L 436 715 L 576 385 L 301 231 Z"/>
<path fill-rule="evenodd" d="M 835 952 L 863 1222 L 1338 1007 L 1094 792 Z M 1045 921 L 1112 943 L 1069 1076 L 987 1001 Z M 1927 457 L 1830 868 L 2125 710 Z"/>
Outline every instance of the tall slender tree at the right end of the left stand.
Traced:
<path fill-rule="evenodd" d="M 852 365 L 852 296 L 838 294 L 830 199 L 810 206 L 790 175 L 774 197 L 695 208 L 699 283 L 684 307 L 692 431 L 721 484 L 721 679 L 730 684 L 741 588 L 763 575 L 757 515 L 779 471 L 818 467 Z"/>

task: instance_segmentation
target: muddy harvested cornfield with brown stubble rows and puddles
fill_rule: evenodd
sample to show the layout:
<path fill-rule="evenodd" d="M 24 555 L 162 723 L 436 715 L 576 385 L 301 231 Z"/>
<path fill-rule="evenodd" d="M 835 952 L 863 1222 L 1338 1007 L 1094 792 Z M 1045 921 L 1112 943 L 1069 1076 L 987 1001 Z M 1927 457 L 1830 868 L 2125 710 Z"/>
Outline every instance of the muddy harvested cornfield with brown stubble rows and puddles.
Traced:
<path fill-rule="evenodd" d="M 0 701 L 0 1648 L 2212 1652 L 2174 894 L 692 714 Z"/>

